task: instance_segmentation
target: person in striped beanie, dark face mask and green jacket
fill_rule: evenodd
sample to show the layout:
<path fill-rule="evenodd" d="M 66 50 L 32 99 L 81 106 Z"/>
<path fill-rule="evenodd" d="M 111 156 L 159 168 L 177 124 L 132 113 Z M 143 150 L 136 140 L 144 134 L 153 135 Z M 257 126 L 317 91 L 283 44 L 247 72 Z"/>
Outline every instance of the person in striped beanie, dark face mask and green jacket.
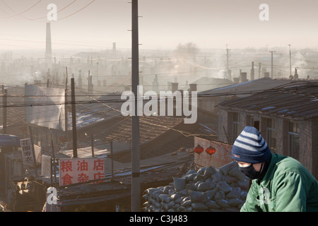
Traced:
<path fill-rule="evenodd" d="M 273 154 L 257 129 L 246 126 L 235 140 L 232 158 L 252 179 L 242 212 L 318 211 L 318 182 L 293 157 Z"/>

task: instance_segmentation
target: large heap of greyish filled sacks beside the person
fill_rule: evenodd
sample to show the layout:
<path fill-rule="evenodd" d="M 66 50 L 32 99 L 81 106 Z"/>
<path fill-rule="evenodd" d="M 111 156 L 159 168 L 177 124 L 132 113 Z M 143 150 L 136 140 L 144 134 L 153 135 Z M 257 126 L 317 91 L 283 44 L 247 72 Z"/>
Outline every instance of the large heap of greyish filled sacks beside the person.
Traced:
<path fill-rule="evenodd" d="M 245 203 L 249 179 L 233 161 L 218 169 L 190 169 L 167 186 L 143 192 L 145 212 L 238 212 Z"/>

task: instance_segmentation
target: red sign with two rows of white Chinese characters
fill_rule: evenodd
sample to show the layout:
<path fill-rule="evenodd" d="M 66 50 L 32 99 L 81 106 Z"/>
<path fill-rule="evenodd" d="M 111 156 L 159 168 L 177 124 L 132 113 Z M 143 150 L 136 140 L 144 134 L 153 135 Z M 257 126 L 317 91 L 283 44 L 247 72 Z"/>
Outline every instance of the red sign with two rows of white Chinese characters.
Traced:
<path fill-rule="evenodd" d="M 102 157 L 67 158 L 59 160 L 59 185 L 88 182 L 105 177 Z"/>

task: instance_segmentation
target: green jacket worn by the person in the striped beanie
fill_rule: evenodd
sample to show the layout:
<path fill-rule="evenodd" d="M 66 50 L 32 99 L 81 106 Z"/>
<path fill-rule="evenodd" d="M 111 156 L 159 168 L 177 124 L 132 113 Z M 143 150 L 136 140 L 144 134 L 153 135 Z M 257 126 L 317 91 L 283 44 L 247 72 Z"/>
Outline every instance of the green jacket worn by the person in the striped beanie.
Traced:
<path fill-rule="evenodd" d="M 318 212 L 318 182 L 292 157 L 273 154 L 264 178 L 252 180 L 242 212 Z"/>

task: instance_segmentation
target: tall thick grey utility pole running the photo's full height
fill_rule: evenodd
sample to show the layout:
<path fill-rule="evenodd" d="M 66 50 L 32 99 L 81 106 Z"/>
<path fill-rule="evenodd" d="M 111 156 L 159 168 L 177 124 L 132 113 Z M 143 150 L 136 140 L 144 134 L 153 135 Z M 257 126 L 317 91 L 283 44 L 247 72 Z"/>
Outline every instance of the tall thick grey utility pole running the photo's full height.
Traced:
<path fill-rule="evenodd" d="M 139 212 L 140 193 L 140 143 L 137 96 L 139 85 L 139 30 L 138 0 L 131 1 L 131 90 L 135 95 L 135 114 L 131 117 L 131 211 Z"/>

